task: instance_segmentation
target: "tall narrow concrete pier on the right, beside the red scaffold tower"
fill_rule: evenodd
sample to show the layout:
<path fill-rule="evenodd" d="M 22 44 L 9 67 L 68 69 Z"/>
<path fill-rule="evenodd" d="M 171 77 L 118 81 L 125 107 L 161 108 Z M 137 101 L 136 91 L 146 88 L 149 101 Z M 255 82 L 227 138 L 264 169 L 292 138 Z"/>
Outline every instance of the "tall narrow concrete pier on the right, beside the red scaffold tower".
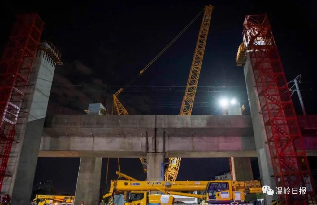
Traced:
<path fill-rule="evenodd" d="M 271 155 L 269 148 L 265 142 L 267 141 L 267 136 L 265 132 L 263 117 L 261 114 L 261 106 L 259 102 L 258 93 L 255 87 L 255 79 L 253 75 L 253 70 L 250 62 L 249 54 L 247 54 L 247 60 L 244 66 L 244 77 L 247 85 L 247 92 L 249 97 L 250 112 L 252 118 L 254 139 L 256 143 L 256 152 L 258 156 L 260 175 L 262 178 L 262 186 L 268 185 L 273 190 L 275 190 L 276 184 L 273 177 L 273 167 L 271 161 Z M 270 204 L 276 195 L 269 196 L 264 194 L 267 204 Z"/>

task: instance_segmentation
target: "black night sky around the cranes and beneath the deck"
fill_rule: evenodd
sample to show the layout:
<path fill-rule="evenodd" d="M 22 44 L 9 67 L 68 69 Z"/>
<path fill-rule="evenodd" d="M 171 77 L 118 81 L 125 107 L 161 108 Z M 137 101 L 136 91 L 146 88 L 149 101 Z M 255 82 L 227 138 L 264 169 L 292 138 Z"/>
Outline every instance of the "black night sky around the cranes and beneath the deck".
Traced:
<path fill-rule="evenodd" d="M 48 114 L 85 114 L 88 104 L 111 109 L 111 95 L 138 76 L 204 5 L 215 6 L 192 114 L 220 114 L 222 96 L 248 99 L 242 67 L 235 58 L 247 14 L 267 13 L 287 80 L 300 84 L 308 114 L 316 114 L 316 1 L 3 1 L 0 4 L 0 52 L 19 12 L 37 12 L 45 23 L 42 39 L 62 54 L 56 67 Z M 129 114 L 178 114 L 196 45 L 201 17 L 148 70 L 121 93 Z M 301 114 L 298 99 L 294 105 Z M 104 162 L 106 159 L 104 159 Z M 59 194 L 74 194 L 79 159 L 39 158 L 35 182 L 53 180 Z M 255 160 L 256 161 L 256 160 Z M 257 173 L 256 162 L 253 162 Z M 106 188 L 103 163 L 101 186 Z M 118 164 L 110 159 L 109 179 Z M 133 169 L 132 169 L 133 168 Z M 188 170 L 191 170 L 190 172 Z M 208 180 L 229 170 L 227 158 L 183 159 L 179 180 Z M 121 171 L 140 180 L 138 159 L 121 159 Z"/>

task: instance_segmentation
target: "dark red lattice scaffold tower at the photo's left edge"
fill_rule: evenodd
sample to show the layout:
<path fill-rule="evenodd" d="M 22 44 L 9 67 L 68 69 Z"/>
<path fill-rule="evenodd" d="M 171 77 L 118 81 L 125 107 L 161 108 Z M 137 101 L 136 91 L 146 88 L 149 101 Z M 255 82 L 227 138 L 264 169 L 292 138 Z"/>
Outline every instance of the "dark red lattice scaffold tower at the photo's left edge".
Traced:
<path fill-rule="evenodd" d="M 23 94 L 44 23 L 37 14 L 17 16 L 0 61 L 0 190 L 10 151 Z"/>

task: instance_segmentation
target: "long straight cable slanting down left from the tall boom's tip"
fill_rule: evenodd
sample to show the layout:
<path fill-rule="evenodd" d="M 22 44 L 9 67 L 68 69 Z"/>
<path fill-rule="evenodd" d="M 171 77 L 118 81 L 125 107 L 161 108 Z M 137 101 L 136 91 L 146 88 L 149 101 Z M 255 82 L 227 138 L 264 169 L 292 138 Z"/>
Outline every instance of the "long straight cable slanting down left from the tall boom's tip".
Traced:
<path fill-rule="evenodd" d="M 204 12 L 204 9 L 201 10 L 201 11 L 197 14 L 197 16 L 195 16 L 195 17 L 191 20 L 191 22 L 189 22 L 189 23 L 185 26 L 185 28 L 184 28 L 169 44 L 167 44 L 167 46 L 165 46 L 165 48 L 163 48 L 163 50 L 161 50 L 161 52 L 159 52 L 159 54 L 157 54 L 157 55 L 152 59 L 152 61 L 150 61 L 142 70 L 140 70 L 139 74 L 138 74 L 135 78 L 133 78 L 133 79 L 123 88 L 122 91 L 124 91 L 127 87 L 129 87 L 138 77 L 140 77 L 140 76 L 144 73 L 144 71 L 146 71 L 146 69 L 147 69 L 148 67 L 150 67 L 168 48 L 170 48 L 170 46 L 179 38 L 179 36 L 181 36 L 181 35 L 191 26 L 191 24 L 193 24 L 193 22 L 195 22 L 195 20 L 196 20 L 203 12 Z M 121 92 L 122 92 L 122 91 L 121 91 Z"/>

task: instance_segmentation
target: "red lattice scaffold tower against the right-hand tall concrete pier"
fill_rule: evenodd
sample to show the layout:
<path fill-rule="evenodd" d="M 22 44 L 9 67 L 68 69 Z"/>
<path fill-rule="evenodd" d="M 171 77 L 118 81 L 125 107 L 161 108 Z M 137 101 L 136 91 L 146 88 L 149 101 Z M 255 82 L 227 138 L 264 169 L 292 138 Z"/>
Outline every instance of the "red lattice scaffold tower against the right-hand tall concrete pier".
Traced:
<path fill-rule="evenodd" d="M 316 203 L 306 151 L 267 15 L 246 16 L 249 53 L 277 187 L 306 187 L 306 195 L 278 195 L 281 204 Z"/>

